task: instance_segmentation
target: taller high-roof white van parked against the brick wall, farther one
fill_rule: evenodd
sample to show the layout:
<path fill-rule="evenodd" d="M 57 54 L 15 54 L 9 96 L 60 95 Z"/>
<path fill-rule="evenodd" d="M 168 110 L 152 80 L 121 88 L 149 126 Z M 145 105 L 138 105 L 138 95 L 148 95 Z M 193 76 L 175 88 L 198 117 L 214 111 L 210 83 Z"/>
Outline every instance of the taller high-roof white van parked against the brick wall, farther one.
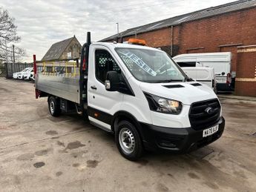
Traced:
<path fill-rule="evenodd" d="M 231 52 L 188 53 L 174 56 L 173 59 L 180 67 L 213 67 L 217 90 L 234 89 L 235 73 L 231 71 Z"/>

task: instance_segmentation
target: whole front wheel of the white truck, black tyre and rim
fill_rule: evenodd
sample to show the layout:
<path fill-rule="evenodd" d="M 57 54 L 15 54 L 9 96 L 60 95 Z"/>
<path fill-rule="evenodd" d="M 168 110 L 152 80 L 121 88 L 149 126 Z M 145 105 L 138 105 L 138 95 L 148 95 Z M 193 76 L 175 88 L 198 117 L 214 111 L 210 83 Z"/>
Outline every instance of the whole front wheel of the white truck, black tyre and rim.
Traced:
<path fill-rule="evenodd" d="M 119 122 L 116 133 L 116 146 L 126 159 L 136 161 L 143 153 L 142 140 L 137 129 L 128 121 Z"/>

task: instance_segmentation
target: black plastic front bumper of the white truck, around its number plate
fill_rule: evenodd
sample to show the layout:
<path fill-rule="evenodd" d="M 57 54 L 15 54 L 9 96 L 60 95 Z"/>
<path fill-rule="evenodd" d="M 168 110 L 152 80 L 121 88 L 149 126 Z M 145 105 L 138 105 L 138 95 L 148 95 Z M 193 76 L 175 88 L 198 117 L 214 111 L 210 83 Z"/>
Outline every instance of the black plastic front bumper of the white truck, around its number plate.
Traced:
<path fill-rule="evenodd" d="M 219 125 L 219 129 L 211 136 L 203 138 L 203 130 L 193 128 L 163 128 L 141 123 L 141 134 L 144 147 L 148 150 L 163 150 L 173 153 L 188 153 L 216 141 L 223 134 L 225 119 L 211 125 Z"/>

